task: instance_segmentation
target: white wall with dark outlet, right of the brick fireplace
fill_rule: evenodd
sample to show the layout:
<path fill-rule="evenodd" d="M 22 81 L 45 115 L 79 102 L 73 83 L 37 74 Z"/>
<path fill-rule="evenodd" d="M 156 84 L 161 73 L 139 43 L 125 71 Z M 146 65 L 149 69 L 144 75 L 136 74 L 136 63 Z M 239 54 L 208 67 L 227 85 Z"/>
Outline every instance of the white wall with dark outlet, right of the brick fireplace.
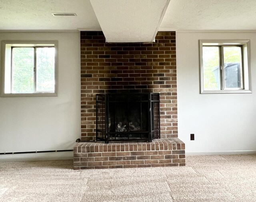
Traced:
<path fill-rule="evenodd" d="M 200 94 L 199 40 L 204 39 L 250 40 L 252 93 Z M 178 137 L 186 153 L 256 151 L 256 32 L 177 32 L 176 50 Z"/>

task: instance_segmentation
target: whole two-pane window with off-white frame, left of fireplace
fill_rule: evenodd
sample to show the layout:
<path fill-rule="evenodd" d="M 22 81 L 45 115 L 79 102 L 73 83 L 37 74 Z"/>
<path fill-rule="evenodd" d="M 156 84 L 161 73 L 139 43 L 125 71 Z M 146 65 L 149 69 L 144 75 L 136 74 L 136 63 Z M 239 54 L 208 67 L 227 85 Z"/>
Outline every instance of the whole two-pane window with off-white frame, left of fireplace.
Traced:
<path fill-rule="evenodd" d="M 56 96 L 57 41 L 3 41 L 1 96 Z"/>

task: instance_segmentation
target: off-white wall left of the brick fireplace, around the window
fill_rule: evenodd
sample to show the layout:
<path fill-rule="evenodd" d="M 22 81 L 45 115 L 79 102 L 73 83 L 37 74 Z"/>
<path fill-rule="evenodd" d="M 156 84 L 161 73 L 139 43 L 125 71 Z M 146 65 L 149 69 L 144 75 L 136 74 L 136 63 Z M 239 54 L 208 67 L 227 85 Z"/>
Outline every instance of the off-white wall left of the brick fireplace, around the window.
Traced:
<path fill-rule="evenodd" d="M 58 40 L 58 96 L 0 97 L 0 153 L 73 149 L 80 137 L 80 33 L 0 32 L 2 40 Z"/>

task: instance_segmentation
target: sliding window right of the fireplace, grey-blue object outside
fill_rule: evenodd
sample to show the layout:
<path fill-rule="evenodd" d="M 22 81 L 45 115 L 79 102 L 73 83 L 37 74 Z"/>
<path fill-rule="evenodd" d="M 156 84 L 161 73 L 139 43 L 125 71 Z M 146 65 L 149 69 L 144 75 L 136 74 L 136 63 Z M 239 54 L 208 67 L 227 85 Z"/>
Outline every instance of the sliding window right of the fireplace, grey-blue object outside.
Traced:
<path fill-rule="evenodd" d="M 251 93 L 249 40 L 200 40 L 201 93 Z"/>

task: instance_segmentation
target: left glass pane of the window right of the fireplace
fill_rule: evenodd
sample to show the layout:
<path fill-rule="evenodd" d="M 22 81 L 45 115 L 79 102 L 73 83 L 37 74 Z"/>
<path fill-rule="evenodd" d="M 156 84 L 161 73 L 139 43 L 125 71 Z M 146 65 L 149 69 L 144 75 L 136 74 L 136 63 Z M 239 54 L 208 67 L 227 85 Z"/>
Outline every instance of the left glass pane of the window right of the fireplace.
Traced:
<path fill-rule="evenodd" d="M 204 90 L 220 90 L 220 60 L 217 46 L 203 46 Z"/>

